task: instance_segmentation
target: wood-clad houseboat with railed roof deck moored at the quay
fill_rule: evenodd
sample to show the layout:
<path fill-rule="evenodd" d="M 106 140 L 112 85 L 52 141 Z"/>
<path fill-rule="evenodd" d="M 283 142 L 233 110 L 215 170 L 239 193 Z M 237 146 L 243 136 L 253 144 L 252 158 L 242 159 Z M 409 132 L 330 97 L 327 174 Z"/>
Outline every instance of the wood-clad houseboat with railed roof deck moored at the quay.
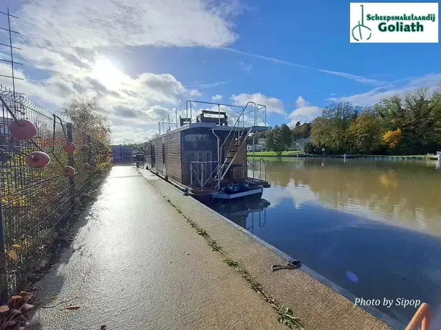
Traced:
<path fill-rule="evenodd" d="M 189 100 L 158 130 L 147 143 L 146 168 L 196 199 L 260 198 L 269 187 L 265 161 L 247 159 L 247 137 L 268 130 L 265 106 Z"/>

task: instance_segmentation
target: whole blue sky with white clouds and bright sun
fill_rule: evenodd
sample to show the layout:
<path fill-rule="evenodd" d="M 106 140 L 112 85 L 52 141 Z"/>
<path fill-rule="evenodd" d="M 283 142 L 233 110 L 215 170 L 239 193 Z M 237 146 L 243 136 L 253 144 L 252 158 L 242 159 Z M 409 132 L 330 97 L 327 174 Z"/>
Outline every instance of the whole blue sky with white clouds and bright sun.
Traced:
<path fill-rule="evenodd" d="M 347 1 L 3 0 L 0 10 L 7 6 L 21 33 L 16 90 L 52 112 L 75 91 L 96 96 L 114 144 L 148 140 L 190 99 L 265 104 L 274 126 L 310 122 L 331 102 L 369 107 L 441 82 L 439 43 L 349 43 Z M 8 63 L 0 74 L 10 74 Z"/>

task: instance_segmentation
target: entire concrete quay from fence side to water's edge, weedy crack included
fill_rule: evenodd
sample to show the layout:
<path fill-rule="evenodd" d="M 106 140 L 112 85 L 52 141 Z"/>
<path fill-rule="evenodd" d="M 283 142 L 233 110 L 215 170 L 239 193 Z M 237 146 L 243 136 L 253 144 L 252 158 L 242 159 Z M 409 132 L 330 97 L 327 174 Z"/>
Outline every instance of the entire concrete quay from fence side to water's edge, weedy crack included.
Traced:
<path fill-rule="evenodd" d="M 115 166 L 84 216 L 39 283 L 39 329 L 389 329 L 305 266 L 271 272 L 289 256 L 145 169 Z"/>

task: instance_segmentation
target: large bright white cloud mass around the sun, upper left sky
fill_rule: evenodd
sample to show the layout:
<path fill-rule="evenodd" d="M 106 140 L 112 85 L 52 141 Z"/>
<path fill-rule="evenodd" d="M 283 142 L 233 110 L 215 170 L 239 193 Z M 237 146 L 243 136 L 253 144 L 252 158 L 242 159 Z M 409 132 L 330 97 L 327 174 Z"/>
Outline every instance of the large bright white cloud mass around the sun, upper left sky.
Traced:
<path fill-rule="evenodd" d="M 25 2 L 14 27 L 22 32 L 16 39 L 22 48 L 17 55 L 25 65 L 37 69 L 38 77 L 45 78 L 24 77 L 17 70 L 16 74 L 25 78 L 17 81 L 17 91 L 52 104 L 50 110 L 57 111 L 81 89 L 99 98 L 103 112 L 112 121 L 114 141 L 142 140 L 149 135 L 146 131 L 156 129 L 156 122 L 171 110 L 170 106 L 201 96 L 201 92 L 197 87 L 184 87 L 172 74 L 141 72 L 129 76 L 100 56 L 101 50 L 229 45 L 237 39 L 231 19 L 243 10 L 237 0 Z M 8 71 L 6 67 L 4 72 Z M 0 83 L 11 85 L 3 78 Z"/>

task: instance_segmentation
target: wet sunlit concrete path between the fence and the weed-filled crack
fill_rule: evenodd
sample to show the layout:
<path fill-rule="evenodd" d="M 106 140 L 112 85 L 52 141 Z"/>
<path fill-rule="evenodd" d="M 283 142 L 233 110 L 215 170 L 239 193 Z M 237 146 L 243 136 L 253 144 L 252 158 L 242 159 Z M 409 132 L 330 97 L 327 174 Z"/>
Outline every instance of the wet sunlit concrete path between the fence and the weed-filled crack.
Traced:
<path fill-rule="evenodd" d="M 115 166 L 72 248 L 39 283 L 35 329 L 287 329 L 131 166 Z M 79 305 L 64 311 L 66 305 Z M 43 305 L 44 306 L 44 305 Z"/>

